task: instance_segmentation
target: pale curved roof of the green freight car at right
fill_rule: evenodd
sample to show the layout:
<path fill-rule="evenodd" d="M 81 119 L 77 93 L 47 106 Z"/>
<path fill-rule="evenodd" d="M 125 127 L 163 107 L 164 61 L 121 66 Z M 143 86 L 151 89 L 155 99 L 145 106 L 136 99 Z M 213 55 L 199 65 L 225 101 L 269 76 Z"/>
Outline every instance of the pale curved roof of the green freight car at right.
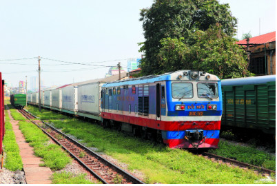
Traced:
<path fill-rule="evenodd" d="M 276 81 L 276 75 L 267 76 L 254 76 L 246 78 L 236 78 L 236 79 L 225 79 L 221 81 L 221 85 L 251 85 L 251 84 L 261 84 L 270 81 Z"/>

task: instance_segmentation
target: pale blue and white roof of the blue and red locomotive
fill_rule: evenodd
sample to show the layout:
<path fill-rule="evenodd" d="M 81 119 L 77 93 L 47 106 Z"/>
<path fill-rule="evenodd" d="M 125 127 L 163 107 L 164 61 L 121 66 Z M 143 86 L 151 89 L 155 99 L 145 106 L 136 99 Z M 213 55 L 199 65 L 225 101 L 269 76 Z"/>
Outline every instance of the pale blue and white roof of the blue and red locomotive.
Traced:
<path fill-rule="evenodd" d="M 157 81 L 180 81 L 180 79 L 178 79 L 177 77 L 179 74 L 183 75 L 183 72 L 185 71 L 190 72 L 190 71 L 196 71 L 196 70 L 178 70 L 176 72 L 167 72 L 165 74 L 160 74 L 160 75 L 150 75 L 150 76 L 139 77 L 136 79 L 113 81 L 113 82 L 105 83 L 103 87 L 111 87 L 111 86 L 119 86 L 119 85 L 135 85 L 138 83 L 154 83 Z M 207 74 L 209 73 L 205 73 L 205 76 Z M 220 81 L 220 79 L 218 79 L 217 76 L 212 74 L 209 74 L 209 75 L 211 76 L 211 79 L 209 79 L 209 81 Z M 204 76 L 200 76 L 199 79 L 200 79 L 199 81 L 207 81 L 205 80 Z M 189 80 L 189 76 L 183 76 L 182 80 L 192 81 L 192 80 Z"/>

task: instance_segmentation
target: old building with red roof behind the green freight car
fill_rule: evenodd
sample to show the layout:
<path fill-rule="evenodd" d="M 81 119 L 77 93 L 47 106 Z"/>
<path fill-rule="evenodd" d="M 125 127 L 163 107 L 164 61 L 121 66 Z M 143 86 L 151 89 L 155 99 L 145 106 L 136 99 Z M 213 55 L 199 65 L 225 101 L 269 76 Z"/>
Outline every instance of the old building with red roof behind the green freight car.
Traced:
<path fill-rule="evenodd" d="M 248 56 L 248 70 L 258 76 L 276 74 L 276 32 L 237 42 Z"/>

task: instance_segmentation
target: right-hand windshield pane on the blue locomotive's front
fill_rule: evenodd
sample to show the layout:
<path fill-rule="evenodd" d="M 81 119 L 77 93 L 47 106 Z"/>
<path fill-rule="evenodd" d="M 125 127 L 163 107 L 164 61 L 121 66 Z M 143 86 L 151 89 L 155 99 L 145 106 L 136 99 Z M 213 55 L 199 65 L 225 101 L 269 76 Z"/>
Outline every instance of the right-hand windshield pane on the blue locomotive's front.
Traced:
<path fill-rule="evenodd" d="M 198 83 L 197 92 L 199 98 L 217 98 L 218 85 L 217 83 Z"/>

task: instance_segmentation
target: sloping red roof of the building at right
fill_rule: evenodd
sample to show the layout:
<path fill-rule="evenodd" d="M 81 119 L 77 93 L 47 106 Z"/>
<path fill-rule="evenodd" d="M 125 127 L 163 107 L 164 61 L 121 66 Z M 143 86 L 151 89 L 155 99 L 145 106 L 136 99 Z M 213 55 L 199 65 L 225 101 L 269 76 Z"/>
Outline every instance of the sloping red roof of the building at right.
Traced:
<path fill-rule="evenodd" d="M 269 43 L 272 41 L 276 41 L 276 31 L 270 32 L 267 34 L 263 34 L 257 37 L 249 38 L 250 44 L 263 44 L 263 43 Z M 236 42 L 237 44 L 245 44 L 246 45 L 246 39 L 240 40 Z"/>

